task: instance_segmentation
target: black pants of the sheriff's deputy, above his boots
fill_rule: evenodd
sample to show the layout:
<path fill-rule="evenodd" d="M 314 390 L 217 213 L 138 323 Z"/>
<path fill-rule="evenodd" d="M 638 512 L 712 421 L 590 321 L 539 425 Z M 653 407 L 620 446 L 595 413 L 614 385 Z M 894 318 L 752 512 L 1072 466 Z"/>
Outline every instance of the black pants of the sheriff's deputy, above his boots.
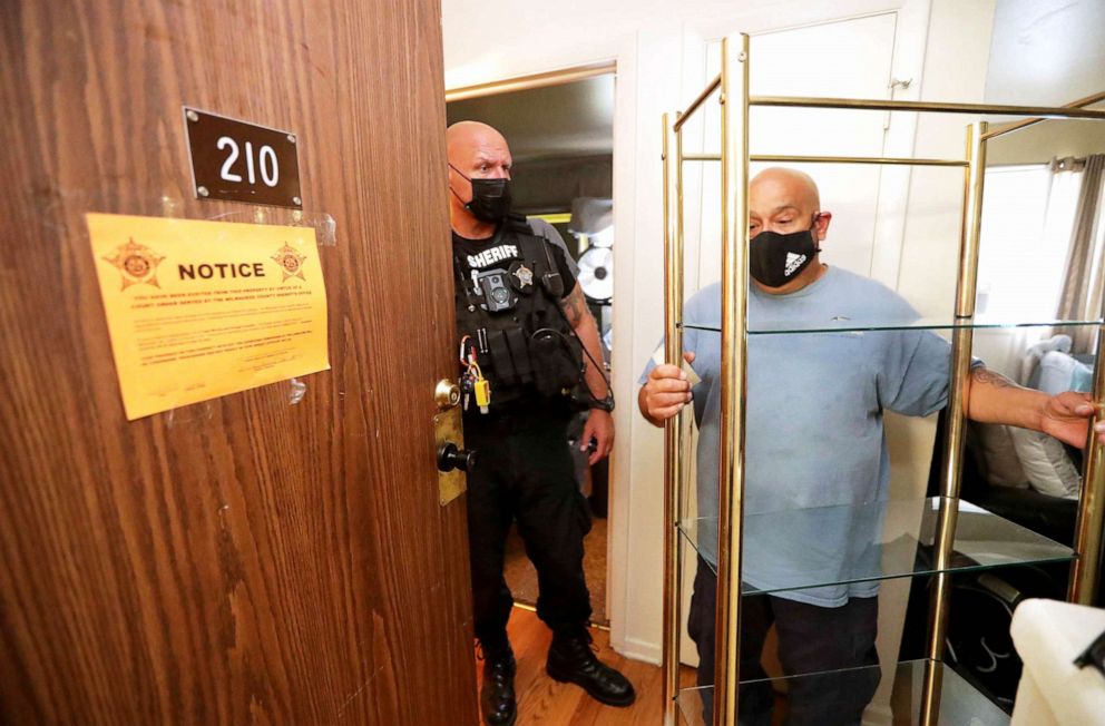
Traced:
<path fill-rule="evenodd" d="M 502 577 L 511 520 L 537 568 L 537 615 L 554 631 L 578 632 L 590 618 L 584 536 L 590 513 L 568 451 L 567 419 L 466 418 L 465 443 L 477 454 L 468 474 L 468 541 L 476 637 L 506 642 L 514 599 Z"/>

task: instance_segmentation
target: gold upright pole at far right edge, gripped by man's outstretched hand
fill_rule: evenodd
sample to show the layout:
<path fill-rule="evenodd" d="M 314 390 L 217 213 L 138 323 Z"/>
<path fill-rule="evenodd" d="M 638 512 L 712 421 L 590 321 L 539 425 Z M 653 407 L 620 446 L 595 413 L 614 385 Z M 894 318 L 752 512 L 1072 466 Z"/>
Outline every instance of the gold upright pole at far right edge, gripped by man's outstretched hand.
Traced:
<path fill-rule="evenodd" d="M 1103 305 L 1105 315 L 1105 305 Z M 1105 325 L 1097 328 L 1097 363 L 1094 366 L 1094 401 L 1097 412 L 1089 426 L 1086 460 L 1083 464 L 1082 498 L 1078 501 L 1078 523 L 1075 527 L 1074 551 L 1078 556 L 1070 565 L 1067 599 L 1093 605 L 1097 591 L 1097 573 L 1102 567 L 1102 536 L 1105 529 L 1105 447 L 1097 443 L 1093 424 L 1105 420 Z"/>

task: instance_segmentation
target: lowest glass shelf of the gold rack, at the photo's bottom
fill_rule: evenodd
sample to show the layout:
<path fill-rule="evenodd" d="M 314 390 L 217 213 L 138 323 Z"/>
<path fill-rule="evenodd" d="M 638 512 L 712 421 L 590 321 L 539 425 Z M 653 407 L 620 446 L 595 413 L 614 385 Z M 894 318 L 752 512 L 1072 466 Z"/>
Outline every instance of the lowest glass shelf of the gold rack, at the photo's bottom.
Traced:
<path fill-rule="evenodd" d="M 907 660 L 897 666 L 892 666 L 893 686 L 890 689 L 890 698 L 887 703 L 878 700 L 868 706 L 864 724 L 868 723 L 893 723 L 894 726 L 920 723 L 921 684 L 925 677 L 926 665 L 933 661 Z M 933 663 L 940 669 L 940 724 L 970 724 L 971 726 L 1006 726 L 1009 723 L 1009 715 L 1001 710 L 989 698 L 971 686 L 952 668 Z M 802 685 L 814 685 L 822 693 L 829 691 L 835 698 L 839 694 L 841 705 L 843 699 L 852 690 L 853 685 L 859 680 L 870 680 L 872 678 L 886 678 L 887 673 L 880 666 L 870 668 L 850 668 L 822 674 L 811 674 L 804 676 L 792 676 L 790 678 L 772 678 L 765 680 L 750 680 L 742 684 L 745 688 L 763 687 L 770 689 L 767 700 L 774 702 L 776 709 L 786 709 L 786 696 L 776 694 L 789 693 L 791 689 Z M 713 686 L 702 688 L 684 688 L 676 696 L 679 714 L 683 723 L 688 726 L 705 726 L 710 718 L 703 713 L 704 705 L 713 703 Z M 888 713 L 889 712 L 889 713 Z M 752 716 L 752 714 L 747 714 Z M 764 723 L 767 722 L 767 714 L 761 715 Z M 774 714 L 770 723 L 781 723 L 780 714 Z M 760 723 L 751 718 L 754 723 Z"/>

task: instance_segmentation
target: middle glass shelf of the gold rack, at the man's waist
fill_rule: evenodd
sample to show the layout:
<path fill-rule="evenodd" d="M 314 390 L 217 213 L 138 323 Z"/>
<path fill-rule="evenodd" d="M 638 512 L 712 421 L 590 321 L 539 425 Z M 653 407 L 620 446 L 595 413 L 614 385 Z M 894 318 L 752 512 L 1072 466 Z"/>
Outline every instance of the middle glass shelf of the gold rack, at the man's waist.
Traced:
<path fill-rule="evenodd" d="M 871 502 L 842 507 L 819 507 L 784 511 L 745 513 L 744 516 L 744 572 L 770 571 L 775 585 L 756 587 L 745 582 L 742 591 L 782 592 L 816 587 L 869 582 L 916 575 L 933 575 L 938 570 L 931 561 L 937 512 L 940 497 L 920 500 Z M 884 511 L 883 511 L 884 508 Z M 852 548 L 845 558 L 848 569 L 827 569 L 802 543 L 801 552 L 786 552 L 785 532 L 819 532 L 823 541 L 832 541 L 831 533 L 841 522 L 849 526 L 844 537 Z M 686 519 L 679 531 L 700 555 L 708 552 L 707 563 L 716 559 L 716 518 Z M 870 537 L 855 537 L 867 530 Z M 769 542 L 770 544 L 764 544 Z M 782 551 L 781 551 L 782 550 Z M 956 527 L 955 553 L 947 571 L 985 570 L 1008 565 L 1027 565 L 1069 561 L 1074 551 L 1042 534 L 1003 519 L 969 502 L 959 501 Z M 839 558 L 833 558 L 835 561 Z M 794 561 L 801 562 L 799 567 Z M 780 562 L 785 562 L 785 571 Z M 712 569 L 716 569 L 711 565 Z M 755 579 L 755 578 L 752 578 Z"/>

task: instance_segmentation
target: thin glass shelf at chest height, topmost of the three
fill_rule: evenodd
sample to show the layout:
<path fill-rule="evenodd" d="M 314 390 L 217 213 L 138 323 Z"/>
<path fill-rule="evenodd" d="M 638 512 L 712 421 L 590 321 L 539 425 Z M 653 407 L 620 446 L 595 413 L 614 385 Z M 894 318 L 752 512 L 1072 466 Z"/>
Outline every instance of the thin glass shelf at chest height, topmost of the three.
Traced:
<path fill-rule="evenodd" d="M 1072 325 L 1101 325 L 1102 320 L 1039 320 L 1039 321 L 1003 321 L 987 317 L 976 317 L 969 323 L 950 317 L 921 317 L 918 320 L 880 320 L 857 321 L 835 316 L 823 321 L 757 321 L 749 326 L 749 335 L 785 335 L 795 333 L 867 333 L 873 331 L 938 331 L 970 327 L 972 330 L 1004 330 L 1019 327 L 1066 327 Z M 697 323 L 679 323 L 679 327 L 688 331 L 706 331 L 720 333 L 721 325 L 704 325 Z"/>

